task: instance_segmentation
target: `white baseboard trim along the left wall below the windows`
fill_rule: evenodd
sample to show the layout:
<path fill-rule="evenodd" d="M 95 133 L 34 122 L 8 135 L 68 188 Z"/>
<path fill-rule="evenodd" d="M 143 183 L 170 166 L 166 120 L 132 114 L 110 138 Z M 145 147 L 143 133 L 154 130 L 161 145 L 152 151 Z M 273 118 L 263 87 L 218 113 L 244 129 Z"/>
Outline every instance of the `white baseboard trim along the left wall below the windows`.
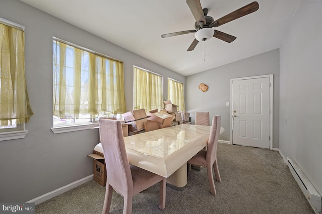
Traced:
<path fill-rule="evenodd" d="M 62 187 L 60 187 L 58 189 L 55 189 L 55 190 L 53 190 L 51 192 L 48 192 L 46 194 L 40 195 L 39 197 L 36 197 L 36 198 L 34 198 L 32 200 L 27 201 L 26 203 L 35 203 L 35 205 L 37 205 L 37 204 L 42 203 L 42 202 L 44 202 L 46 200 L 49 200 L 50 198 L 53 198 L 53 197 L 55 197 L 57 195 L 60 195 L 61 193 L 64 193 L 64 192 L 66 192 L 66 191 L 68 191 L 68 190 L 70 190 L 72 188 L 75 188 L 75 187 L 77 187 L 79 185 L 82 185 L 83 183 L 86 183 L 86 182 L 88 182 L 90 180 L 93 180 L 93 174 L 89 175 L 89 176 L 87 176 L 85 178 L 76 180 L 75 182 L 72 182 L 70 184 L 62 186 Z"/>

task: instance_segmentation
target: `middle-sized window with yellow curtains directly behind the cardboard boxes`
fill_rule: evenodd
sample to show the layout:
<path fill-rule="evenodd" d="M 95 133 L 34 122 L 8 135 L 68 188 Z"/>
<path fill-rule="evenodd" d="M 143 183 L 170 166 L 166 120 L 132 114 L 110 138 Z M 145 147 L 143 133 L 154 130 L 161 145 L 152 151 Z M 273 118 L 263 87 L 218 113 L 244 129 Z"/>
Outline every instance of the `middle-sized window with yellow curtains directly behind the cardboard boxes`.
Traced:
<path fill-rule="evenodd" d="M 163 109 L 162 76 L 134 66 L 133 110 Z"/>

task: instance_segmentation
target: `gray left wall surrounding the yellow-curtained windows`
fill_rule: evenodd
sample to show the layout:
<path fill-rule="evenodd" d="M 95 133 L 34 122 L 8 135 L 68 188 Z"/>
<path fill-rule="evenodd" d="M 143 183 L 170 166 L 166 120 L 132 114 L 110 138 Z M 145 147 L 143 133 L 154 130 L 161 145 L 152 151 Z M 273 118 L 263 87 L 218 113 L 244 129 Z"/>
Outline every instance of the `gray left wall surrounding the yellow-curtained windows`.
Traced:
<path fill-rule="evenodd" d="M 25 202 L 93 174 L 86 157 L 99 141 L 98 130 L 53 134 L 52 37 L 124 62 L 125 98 L 133 106 L 133 65 L 185 82 L 185 77 L 18 0 L 1 0 L 0 17 L 24 25 L 25 70 L 34 115 L 24 139 L 0 141 L 0 201 Z"/>

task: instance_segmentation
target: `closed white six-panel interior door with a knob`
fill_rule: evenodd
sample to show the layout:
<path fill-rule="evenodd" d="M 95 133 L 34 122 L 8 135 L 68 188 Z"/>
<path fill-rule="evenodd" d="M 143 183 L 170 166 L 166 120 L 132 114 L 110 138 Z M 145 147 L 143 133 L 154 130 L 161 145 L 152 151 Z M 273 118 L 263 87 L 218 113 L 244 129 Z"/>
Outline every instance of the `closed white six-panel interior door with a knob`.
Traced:
<path fill-rule="evenodd" d="M 270 148 L 270 77 L 232 80 L 232 144 Z"/>

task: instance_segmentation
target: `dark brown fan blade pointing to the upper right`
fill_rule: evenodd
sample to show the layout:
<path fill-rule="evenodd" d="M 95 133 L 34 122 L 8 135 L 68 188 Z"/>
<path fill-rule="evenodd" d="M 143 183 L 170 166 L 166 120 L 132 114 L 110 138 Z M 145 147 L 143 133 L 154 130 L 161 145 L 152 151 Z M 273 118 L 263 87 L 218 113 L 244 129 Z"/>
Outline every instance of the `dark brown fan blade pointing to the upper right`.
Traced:
<path fill-rule="evenodd" d="M 251 4 L 248 4 L 247 6 L 244 6 L 243 8 L 239 8 L 238 10 L 231 12 L 230 14 L 227 14 L 226 16 L 223 16 L 220 19 L 213 21 L 211 24 L 211 27 L 218 27 L 218 26 L 223 25 L 223 24 L 230 22 L 232 20 L 235 20 L 240 17 L 251 14 L 251 13 L 257 11 L 258 9 L 259 9 L 258 3 L 252 2 Z"/>

